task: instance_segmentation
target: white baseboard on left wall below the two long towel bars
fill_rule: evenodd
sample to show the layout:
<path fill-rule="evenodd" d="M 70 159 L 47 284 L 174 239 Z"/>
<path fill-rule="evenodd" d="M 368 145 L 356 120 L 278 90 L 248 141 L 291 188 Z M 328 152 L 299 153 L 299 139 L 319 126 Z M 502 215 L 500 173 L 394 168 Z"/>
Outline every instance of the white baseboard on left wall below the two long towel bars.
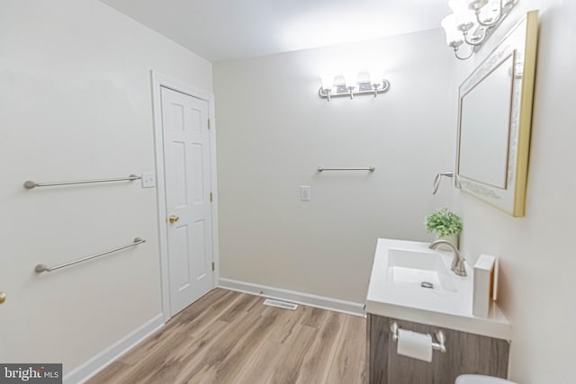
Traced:
<path fill-rule="evenodd" d="M 85 382 L 162 326 L 164 326 L 164 316 L 159 314 L 148 320 L 144 325 L 130 332 L 130 334 L 122 337 L 121 340 L 112 344 L 103 350 L 103 352 L 96 354 L 92 359 L 80 365 L 74 371 L 68 372 L 64 375 L 64 383 L 76 384 Z"/>

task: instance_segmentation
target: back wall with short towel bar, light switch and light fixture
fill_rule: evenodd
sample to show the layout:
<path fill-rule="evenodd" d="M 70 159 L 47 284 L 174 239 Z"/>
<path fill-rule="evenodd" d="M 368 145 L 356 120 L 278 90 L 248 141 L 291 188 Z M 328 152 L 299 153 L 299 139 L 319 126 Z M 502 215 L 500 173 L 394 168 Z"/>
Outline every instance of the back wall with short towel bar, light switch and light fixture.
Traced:
<path fill-rule="evenodd" d="M 220 277 L 364 302 L 378 237 L 431 238 L 424 216 L 451 201 L 432 182 L 454 167 L 455 61 L 443 41 L 425 31 L 214 65 Z M 322 70 L 374 63 L 388 94 L 319 98 Z"/>

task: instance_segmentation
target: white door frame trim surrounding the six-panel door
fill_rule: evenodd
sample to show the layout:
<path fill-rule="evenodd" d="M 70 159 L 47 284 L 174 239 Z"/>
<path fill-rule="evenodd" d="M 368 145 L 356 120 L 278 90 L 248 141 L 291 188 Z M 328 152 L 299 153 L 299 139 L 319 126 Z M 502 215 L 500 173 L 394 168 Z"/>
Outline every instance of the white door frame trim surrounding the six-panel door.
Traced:
<path fill-rule="evenodd" d="M 208 102 L 208 118 L 210 119 L 210 187 L 212 192 L 211 202 L 211 231 L 212 231 L 212 262 L 214 271 L 212 273 L 212 288 L 216 287 L 220 276 L 220 253 L 218 248 L 218 185 L 216 173 L 216 119 L 214 113 L 214 94 L 203 91 L 192 85 L 186 85 L 177 80 L 171 79 L 156 71 L 150 70 L 152 82 L 152 104 L 154 119 L 154 149 L 156 166 L 156 197 L 157 197 L 157 222 L 158 222 L 158 251 L 160 255 L 160 285 L 162 291 L 162 312 L 164 322 L 171 317 L 170 309 L 170 276 L 168 273 L 168 245 L 166 226 L 166 185 L 164 174 L 164 137 L 162 123 L 162 98 L 161 88 L 165 87 L 181 94 L 187 94 L 197 99 Z"/>

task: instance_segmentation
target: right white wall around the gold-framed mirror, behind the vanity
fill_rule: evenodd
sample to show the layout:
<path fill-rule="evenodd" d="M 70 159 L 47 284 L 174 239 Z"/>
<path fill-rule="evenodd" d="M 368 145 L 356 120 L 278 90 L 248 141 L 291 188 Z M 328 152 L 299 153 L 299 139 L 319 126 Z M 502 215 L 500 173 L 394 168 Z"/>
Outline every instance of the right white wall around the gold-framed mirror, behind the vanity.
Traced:
<path fill-rule="evenodd" d="M 464 219 L 464 255 L 472 261 L 482 253 L 500 255 L 499 304 L 513 323 L 510 378 L 569 384 L 576 380 L 576 3 L 520 1 L 481 54 L 459 66 L 459 77 L 464 80 L 532 9 L 541 14 L 526 217 L 512 218 L 464 192 L 456 204 Z"/>

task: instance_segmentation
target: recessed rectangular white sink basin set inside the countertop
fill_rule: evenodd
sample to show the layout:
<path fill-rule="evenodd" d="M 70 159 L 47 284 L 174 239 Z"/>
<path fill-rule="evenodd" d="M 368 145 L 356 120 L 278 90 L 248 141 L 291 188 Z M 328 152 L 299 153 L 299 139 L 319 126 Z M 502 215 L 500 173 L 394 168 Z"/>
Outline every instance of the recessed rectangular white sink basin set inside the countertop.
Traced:
<path fill-rule="evenodd" d="M 387 280 L 424 290 L 457 291 L 442 255 L 434 251 L 391 247 L 388 250 Z"/>

